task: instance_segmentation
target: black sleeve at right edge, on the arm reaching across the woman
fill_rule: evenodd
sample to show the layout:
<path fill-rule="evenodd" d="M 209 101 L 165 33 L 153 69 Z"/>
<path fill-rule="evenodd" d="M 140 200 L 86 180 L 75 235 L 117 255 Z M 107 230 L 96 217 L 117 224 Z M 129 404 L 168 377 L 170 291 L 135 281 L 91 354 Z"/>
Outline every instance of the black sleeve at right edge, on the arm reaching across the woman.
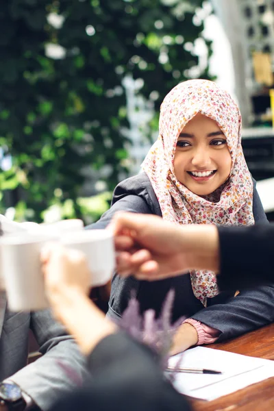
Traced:
<path fill-rule="evenodd" d="M 221 290 L 274 281 L 274 225 L 218 227 Z"/>

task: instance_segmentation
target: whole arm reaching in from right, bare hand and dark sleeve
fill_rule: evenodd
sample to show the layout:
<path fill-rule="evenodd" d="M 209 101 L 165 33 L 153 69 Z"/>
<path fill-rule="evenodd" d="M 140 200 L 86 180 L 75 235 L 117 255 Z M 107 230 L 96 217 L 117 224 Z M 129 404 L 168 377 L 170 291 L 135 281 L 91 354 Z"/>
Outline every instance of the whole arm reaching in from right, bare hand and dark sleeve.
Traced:
<path fill-rule="evenodd" d="M 177 226 L 158 216 L 121 212 L 109 229 L 116 235 L 122 276 L 134 273 L 138 279 L 153 281 L 208 269 L 218 275 L 219 288 L 225 290 L 273 281 L 274 225 Z"/>

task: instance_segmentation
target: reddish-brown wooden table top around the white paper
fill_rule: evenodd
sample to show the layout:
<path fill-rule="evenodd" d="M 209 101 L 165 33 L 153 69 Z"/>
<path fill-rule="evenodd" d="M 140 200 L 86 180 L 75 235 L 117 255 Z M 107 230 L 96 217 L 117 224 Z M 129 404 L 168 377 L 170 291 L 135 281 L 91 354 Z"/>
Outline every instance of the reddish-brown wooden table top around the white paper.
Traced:
<path fill-rule="evenodd" d="M 226 343 L 211 344 L 206 347 L 274 360 L 274 324 Z M 214 401 L 190 399 L 190 403 L 195 411 L 273 411 L 274 377 Z"/>

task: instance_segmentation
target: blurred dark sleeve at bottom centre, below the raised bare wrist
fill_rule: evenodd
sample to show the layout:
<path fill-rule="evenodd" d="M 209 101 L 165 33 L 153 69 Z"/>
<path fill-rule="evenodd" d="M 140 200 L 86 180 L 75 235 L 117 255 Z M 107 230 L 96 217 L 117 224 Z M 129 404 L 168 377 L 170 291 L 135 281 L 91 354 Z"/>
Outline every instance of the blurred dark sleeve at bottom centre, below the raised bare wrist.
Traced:
<path fill-rule="evenodd" d="M 122 333 L 104 338 L 88 358 L 92 381 L 54 411 L 190 411 L 164 379 L 153 353 Z M 53 411 L 53 410 L 52 410 Z"/>

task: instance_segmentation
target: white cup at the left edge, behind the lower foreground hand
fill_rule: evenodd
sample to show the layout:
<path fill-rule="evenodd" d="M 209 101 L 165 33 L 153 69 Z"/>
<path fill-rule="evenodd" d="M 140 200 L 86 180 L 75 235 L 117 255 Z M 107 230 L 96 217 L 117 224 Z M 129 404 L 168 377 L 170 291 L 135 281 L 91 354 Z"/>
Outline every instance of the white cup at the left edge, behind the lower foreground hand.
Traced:
<path fill-rule="evenodd" d="M 10 310 L 35 311 L 48 307 L 40 251 L 48 241 L 54 240 L 57 240 L 55 236 L 27 233 L 1 238 L 1 272 Z"/>

